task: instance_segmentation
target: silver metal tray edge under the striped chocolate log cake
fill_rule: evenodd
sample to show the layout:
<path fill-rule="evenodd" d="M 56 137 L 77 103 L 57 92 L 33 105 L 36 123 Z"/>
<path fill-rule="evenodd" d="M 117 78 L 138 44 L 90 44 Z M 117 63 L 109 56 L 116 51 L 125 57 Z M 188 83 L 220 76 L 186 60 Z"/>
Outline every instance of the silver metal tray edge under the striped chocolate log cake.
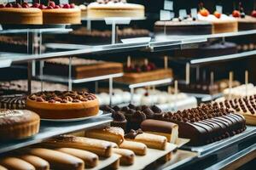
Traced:
<path fill-rule="evenodd" d="M 243 133 L 236 134 L 227 139 L 222 139 L 212 144 L 207 144 L 203 146 L 188 146 L 183 145 L 181 148 L 183 150 L 195 151 L 198 153 L 199 157 L 208 156 L 212 153 L 218 152 L 219 150 L 223 150 L 224 148 L 228 148 L 230 146 L 236 146 L 237 144 L 241 144 L 246 139 L 250 139 L 256 135 L 256 127 L 247 126 L 247 129 Z"/>

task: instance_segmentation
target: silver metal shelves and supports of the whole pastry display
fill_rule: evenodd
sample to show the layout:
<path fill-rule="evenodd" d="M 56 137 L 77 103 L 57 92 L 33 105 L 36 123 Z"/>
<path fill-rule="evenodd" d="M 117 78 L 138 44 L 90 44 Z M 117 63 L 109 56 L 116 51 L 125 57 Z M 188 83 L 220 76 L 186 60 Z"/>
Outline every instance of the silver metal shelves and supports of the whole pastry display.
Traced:
<path fill-rule="evenodd" d="M 44 29 L 4 30 L 4 31 L 0 31 L 0 34 L 24 32 L 28 34 L 28 40 L 32 40 L 35 35 L 36 36 L 39 35 L 39 37 L 41 37 L 42 35 L 40 34 L 44 32 L 50 33 L 50 32 L 57 32 L 57 31 L 65 32 L 65 31 L 71 31 L 71 29 L 45 28 L 45 30 Z M 117 43 L 117 44 L 99 45 L 99 46 L 85 46 L 85 45 L 75 45 L 75 44 L 63 45 L 58 43 L 49 43 L 49 44 L 46 44 L 47 48 L 62 50 L 62 51 L 45 53 L 45 54 L 41 54 L 41 52 L 39 52 L 38 54 L 34 54 L 32 51 L 33 46 L 30 46 L 32 45 L 32 42 L 29 42 L 28 44 L 30 48 L 28 52 L 29 53 L 32 52 L 31 54 L 1 53 L 0 68 L 9 67 L 12 63 L 28 62 L 29 64 L 31 64 L 31 62 L 35 59 L 40 60 L 40 59 L 49 59 L 49 58 L 58 58 L 58 57 L 70 57 L 72 55 L 79 55 L 79 54 L 119 53 L 119 52 L 128 52 L 128 51 L 134 51 L 134 50 L 148 50 L 150 52 L 164 51 L 164 50 L 170 50 L 173 48 L 181 48 L 183 46 L 186 46 L 192 43 L 207 42 L 207 40 L 210 38 L 236 37 L 236 36 L 245 36 L 245 35 L 252 35 L 252 34 L 256 34 L 256 30 L 215 34 L 215 35 L 204 35 L 204 36 L 198 36 L 198 37 L 180 37 L 179 39 L 177 38 L 175 39 L 174 37 L 167 37 L 167 40 L 156 41 L 156 42 L 131 42 L 131 43 Z M 39 43 L 41 43 L 41 40 Z M 207 59 L 191 59 L 189 63 L 190 65 L 201 65 L 201 64 L 208 64 L 208 63 L 218 62 L 218 61 L 226 61 L 229 59 L 240 59 L 240 58 L 251 56 L 254 54 L 256 54 L 256 50 L 253 50 L 250 52 L 243 52 L 240 54 L 230 54 L 230 55 L 224 55 L 224 56 L 218 56 L 218 57 L 211 57 Z M 30 65 L 28 68 L 30 68 L 29 71 L 31 72 L 32 65 Z M 45 75 L 40 75 L 38 78 L 41 80 L 48 80 L 48 81 L 55 81 L 55 82 L 56 81 L 68 82 L 71 84 L 79 83 L 79 82 L 90 82 L 90 81 L 109 79 L 110 80 L 109 87 L 113 88 L 112 87 L 113 85 L 111 85 L 113 82 L 113 77 L 121 77 L 121 76 L 122 76 L 122 73 L 102 76 L 102 77 L 92 77 L 92 78 L 86 78 L 86 79 L 72 79 L 70 76 L 68 78 L 67 77 L 57 78 L 57 77 L 49 77 Z M 167 79 L 152 81 L 152 82 L 130 84 L 128 85 L 128 87 L 131 89 L 131 94 L 133 94 L 134 88 L 140 88 L 144 86 L 155 86 L 160 84 L 169 84 L 171 82 L 172 82 L 172 78 L 167 78 Z M 111 90 L 109 90 L 109 92 L 112 94 Z M 205 96 L 205 97 L 208 98 L 209 96 Z M 212 98 L 212 96 L 210 97 Z M 63 133 L 72 133 L 74 131 L 79 131 L 79 130 L 90 128 L 90 127 L 102 126 L 104 124 L 108 124 L 111 121 L 112 121 L 112 118 L 110 114 L 104 114 L 96 118 L 92 118 L 85 121 L 79 121 L 79 122 L 61 122 L 61 123 L 42 122 L 40 127 L 40 132 L 36 136 L 32 137 L 31 139 L 15 140 L 12 142 L 1 143 L 0 154 L 3 154 L 10 150 L 19 149 L 21 147 L 26 147 L 31 144 L 40 143 L 45 139 L 49 139 L 56 135 L 60 135 Z M 218 155 L 218 152 L 221 150 L 223 151 L 230 148 L 237 150 L 239 144 L 241 144 L 242 142 L 248 139 L 255 138 L 255 135 L 256 135 L 256 128 L 247 126 L 247 130 L 245 132 L 237 134 L 229 139 L 223 139 L 213 144 L 207 144 L 201 147 L 183 146 L 184 150 L 197 152 L 198 156 L 189 156 L 185 160 L 175 161 L 171 165 L 166 165 L 165 167 L 161 167 L 161 169 L 162 168 L 171 169 L 171 168 L 181 167 L 186 163 L 189 163 L 189 162 L 191 163 L 192 161 L 196 161 L 206 156 L 211 156 L 213 154 Z M 250 153 L 252 150 L 255 150 L 255 147 L 256 147 L 255 144 L 252 144 L 247 149 L 239 151 L 238 153 L 234 154 L 234 156 L 230 156 L 229 158 L 224 159 L 223 161 L 220 161 L 218 164 L 210 168 L 225 167 L 225 165 L 230 163 L 230 161 L 232 162 L 236 160 L 238 157 L 241 157 L 242 155 L 246 155 Z"/>

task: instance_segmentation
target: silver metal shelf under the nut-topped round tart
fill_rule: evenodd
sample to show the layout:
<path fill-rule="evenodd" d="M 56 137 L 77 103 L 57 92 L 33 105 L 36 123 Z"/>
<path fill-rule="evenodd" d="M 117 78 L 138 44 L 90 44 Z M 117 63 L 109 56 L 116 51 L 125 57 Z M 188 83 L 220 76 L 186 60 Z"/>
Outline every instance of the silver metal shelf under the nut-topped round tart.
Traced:
<path fill-rule="evenodd" d="M 77 122 L 41 122 L 39 133 L 29 139 L 0 142 L 0 155 L 10 150 L 16 150 L 32 144 L 38 144 L 45 139 L 64 133 L 77 132 L 90 127 L 103 126 L 112 122 L 110 113 L 104 113 L 94 118 Z"/>

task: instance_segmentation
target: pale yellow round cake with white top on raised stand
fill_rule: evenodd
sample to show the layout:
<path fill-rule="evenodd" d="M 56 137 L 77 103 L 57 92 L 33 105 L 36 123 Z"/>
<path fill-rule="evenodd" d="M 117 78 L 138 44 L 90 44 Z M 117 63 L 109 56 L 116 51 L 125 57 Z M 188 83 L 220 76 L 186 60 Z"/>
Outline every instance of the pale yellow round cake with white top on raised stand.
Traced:
<path fill-rule="evenodd" d="M 88 5 L 87 17 L 91 19 L 103 19 L 105 17 L 143 18 L 144 10 L 143 5 L 126 3 L 126 0 L 97 0 Z"/>

